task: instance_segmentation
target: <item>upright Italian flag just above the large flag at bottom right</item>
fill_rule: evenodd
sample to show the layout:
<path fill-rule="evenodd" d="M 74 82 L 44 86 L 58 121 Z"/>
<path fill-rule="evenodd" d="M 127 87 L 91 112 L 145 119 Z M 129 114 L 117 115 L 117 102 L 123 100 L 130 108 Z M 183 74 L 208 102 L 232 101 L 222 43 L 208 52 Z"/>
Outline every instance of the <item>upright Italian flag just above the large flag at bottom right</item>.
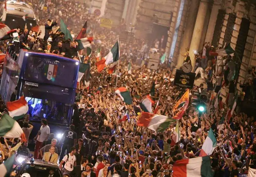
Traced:
<path fill-rule="evenodd" d="M 214 135 L 214 132 L 212 131 L 212 128 L 210 128 L 208 136 L 204 141 L 204 144 L 202 146 L 199 156 L 203 157 L 203 156 L 211 155 L 216 147 L 217 147 L 217 140 Z"/>

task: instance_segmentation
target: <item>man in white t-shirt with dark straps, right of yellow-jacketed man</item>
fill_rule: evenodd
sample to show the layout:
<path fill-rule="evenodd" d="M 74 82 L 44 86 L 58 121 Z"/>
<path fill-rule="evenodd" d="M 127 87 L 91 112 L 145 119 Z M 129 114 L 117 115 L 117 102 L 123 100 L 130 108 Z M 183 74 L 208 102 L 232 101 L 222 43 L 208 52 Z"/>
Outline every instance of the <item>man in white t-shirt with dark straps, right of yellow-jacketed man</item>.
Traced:
<path fill-rule="evenodd" d="M 64 169 L 63 169 L 63 174 L 70 174 L 74 166 L 76 166 L 76 148 L 71 147 L 70 148 L 70 153 L 65 155 L 64 158 L 60 162 L 60 169 L 62 169 L 62 164 L 65 162 Z"/>

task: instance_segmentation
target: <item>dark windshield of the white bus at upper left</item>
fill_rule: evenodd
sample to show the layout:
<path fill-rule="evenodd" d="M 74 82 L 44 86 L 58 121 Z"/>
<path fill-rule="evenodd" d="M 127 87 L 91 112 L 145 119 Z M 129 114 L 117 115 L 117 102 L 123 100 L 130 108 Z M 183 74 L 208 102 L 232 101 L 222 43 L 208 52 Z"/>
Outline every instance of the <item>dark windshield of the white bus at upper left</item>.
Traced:
<path fill-rule="evenodd" d="M 10 29 L 17 27 L 23 29 L 26 24 L 28 30 L 30 30 L 31 27 L 36 26 L 36 19 L 26 18 L 26 21 L 24 21 L 20 16 L 6 14 L 5 25 L 9 26 Z"/>

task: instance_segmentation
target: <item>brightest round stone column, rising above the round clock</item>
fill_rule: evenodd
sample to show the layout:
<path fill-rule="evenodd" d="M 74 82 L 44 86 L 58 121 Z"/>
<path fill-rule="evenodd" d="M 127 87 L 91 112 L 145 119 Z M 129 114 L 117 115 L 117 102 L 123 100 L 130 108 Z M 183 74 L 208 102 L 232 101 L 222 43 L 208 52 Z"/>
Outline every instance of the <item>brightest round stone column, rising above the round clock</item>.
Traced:
<path fill-rule="evenodd" d="M 208 3 L 209 3 L 209 0 L 201 0 L 199 9 L 198 9 L 198 13 L 196 16 L 196 24 L 194 27 L 191 44 L 189 47 L 189 56 L 190 56 L 191 64 L 192 64 L 193 68 L 195 67 L 194 51 L 198 52 L 199 47 L 200 47 L 202 33 L 204 30 L 204 25 L 205 25 L 204 21 L 205 21 L 206 13 L 208 10 Z"/>

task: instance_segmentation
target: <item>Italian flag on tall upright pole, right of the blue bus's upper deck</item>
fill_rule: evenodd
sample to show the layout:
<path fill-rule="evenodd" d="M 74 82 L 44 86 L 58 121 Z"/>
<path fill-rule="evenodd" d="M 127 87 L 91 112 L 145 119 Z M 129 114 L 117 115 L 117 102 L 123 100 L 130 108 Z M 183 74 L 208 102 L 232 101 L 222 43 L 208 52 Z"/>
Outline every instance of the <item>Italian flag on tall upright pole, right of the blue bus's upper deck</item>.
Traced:
<path fill-rule="evenodd" d="M 113 73 L 115 66 L 118 64 L 120 56 L 119 42 L 116 41 L 115 45 L 109 51 L 107 56 L 96 63 L 98 72 L 100 73 L 104 67 L 109 66 L 110 73 Z"/>

